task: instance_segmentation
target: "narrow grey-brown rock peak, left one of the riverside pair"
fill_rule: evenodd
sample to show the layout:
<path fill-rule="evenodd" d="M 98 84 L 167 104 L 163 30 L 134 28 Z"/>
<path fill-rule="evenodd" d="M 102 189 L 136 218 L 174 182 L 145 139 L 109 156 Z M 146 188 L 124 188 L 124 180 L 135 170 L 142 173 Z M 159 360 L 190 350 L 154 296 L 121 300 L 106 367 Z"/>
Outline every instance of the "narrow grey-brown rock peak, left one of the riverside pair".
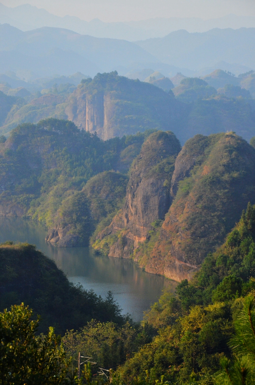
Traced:
<path fill-rule="evenodd" d="M 180 143 L 172 132 L 158 131 L 144 142 L 135 161 L 129 182 L 124 207 L 98 239 L 118 234 L 118 239 L 109 249 L 109 256 L 130 258 L 139 242 L 148 238 L 151 223 L 164 219 L 171 204 L 169 175 L 173 172 L 175 157 Z"/>

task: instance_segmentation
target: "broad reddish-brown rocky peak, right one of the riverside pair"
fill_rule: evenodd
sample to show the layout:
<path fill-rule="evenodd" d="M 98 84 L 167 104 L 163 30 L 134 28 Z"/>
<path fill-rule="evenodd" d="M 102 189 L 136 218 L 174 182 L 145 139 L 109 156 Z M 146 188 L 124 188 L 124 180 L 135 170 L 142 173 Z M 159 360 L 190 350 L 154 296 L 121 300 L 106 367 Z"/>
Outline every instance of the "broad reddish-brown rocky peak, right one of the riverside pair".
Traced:
<path fill-rule="evenodd" d="M 179 182 L 179 187 L 178 187 Z M 146 271 L 190 279 L 247 206 L 255 203 L 255 151 L 234 133 L 190 139 L 175 162 L 174 201 Z"/>

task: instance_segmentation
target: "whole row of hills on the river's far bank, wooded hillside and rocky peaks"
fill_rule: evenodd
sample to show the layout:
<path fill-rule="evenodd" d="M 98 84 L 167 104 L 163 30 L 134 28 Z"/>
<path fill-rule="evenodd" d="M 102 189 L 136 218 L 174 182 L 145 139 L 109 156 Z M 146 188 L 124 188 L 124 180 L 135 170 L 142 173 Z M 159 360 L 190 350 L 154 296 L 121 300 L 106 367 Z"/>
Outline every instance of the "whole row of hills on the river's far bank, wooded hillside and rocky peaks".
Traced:
<path fill-rule="evenodd" d="M 57 246 L 90 242 L 177 281 L 255 203 L 255 150 L 234 132 L 196 135 L 181 149 L 171 131 L 102 141 L 46 119 L 0 139 L 2 215 L 39 220 Z"/>

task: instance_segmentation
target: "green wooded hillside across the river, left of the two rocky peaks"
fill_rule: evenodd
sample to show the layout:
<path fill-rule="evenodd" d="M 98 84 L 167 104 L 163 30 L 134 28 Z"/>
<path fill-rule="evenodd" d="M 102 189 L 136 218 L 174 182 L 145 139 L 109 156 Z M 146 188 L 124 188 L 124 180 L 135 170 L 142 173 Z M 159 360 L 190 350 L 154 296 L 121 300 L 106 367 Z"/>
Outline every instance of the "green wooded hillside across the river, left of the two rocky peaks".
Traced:
<path fill-rule="evenodd" d="M 102 174 L 101 182 L 98 177 L 82 188 L 101 172 L 127 172 L 150 133 L 103 142 L 70 121 L 46 119 L 18 126 L 0 144 L 2 214 L 30 215 L 48 228 L 70 225 L 68 231 L 79 238 L 77 242 L 88 244 L 96 224 L 119 207 L 127 177 L 112 171 Z M 94 214 L 99 197 L 92 190 L 98 190 L 98 183 L 104 183 L 105 191 L 111 188 L 106 197 L 111 203 L 107 206 L 102 198 L 105 208 Z"/>

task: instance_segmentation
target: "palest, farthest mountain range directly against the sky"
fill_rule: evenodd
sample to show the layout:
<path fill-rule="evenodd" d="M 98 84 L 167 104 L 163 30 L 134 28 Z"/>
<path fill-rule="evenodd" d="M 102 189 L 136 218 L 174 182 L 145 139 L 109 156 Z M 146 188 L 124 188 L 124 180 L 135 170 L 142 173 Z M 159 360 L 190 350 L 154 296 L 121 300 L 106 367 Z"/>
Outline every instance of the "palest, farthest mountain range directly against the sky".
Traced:
<path fill-rule="evenodd" d="M 52 15 L 45 9 L 30 4 L 6 7 L 0 3 L 0 23 L 9 23 L 22 31 L 41 27 L 67 28 L 81 35 L 124 39 L 129 41 L 163 37 L 168 33 L 185 29 L 188 32 L 205 32 L 212 28 L 255 27 L 255 17 L 226 15 L 220 18 L 203 20 L 201 18 L 151 18 L 148 20 L 105 23 L 99 19 L 87 22 L 78 17 Z"/>

